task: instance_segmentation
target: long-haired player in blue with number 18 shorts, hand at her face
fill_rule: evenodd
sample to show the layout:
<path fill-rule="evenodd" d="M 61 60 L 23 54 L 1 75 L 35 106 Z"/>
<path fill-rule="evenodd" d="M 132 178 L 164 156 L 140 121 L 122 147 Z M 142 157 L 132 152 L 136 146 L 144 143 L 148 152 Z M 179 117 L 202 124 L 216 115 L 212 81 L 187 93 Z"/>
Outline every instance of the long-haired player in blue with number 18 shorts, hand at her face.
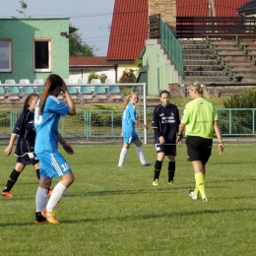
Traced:
<path fill-rule="evenodd" d="M 57 98 L 61 92 L 65 95 L 67 104 Z M 35 195 L 35 219 L 36 215 L 41 214 L 50 224 L 59 224 L 54 209 L 74 181 L 68 162 L 57 151 L 59 143 L 68 154 L 74 154 L 72 147 L 58 132 L 59 118 L 66 114 L 76 114 L 75 104 L 62 78 L 51 74 L 46 79 L 34 111 L 36 130 L 34 151 L 40 161 L 40 182 Z M 47 202 L 47 189 L 54 177 L 61 177 L 61 180 L 54 187 Z"/>

